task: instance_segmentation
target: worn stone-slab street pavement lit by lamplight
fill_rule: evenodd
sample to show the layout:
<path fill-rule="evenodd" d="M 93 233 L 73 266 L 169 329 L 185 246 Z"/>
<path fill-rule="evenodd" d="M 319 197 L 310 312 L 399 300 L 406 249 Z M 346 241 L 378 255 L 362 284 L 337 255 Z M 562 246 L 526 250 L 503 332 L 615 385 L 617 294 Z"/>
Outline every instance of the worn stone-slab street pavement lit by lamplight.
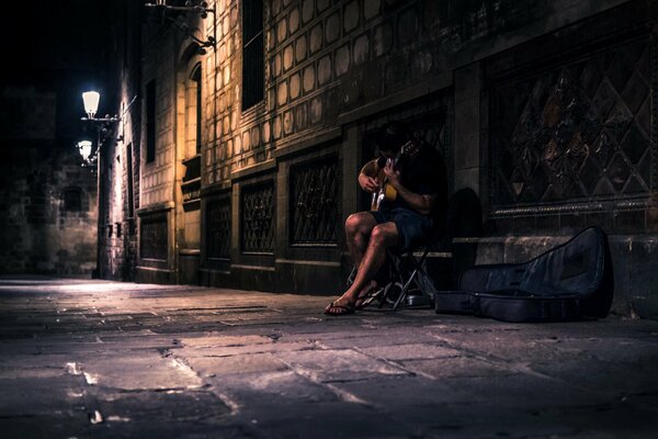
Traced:
<path fill-rule="evenodd" d="M 1 436 L 657 437 L 658 322 L 328 301 L 0 279 Z"/>

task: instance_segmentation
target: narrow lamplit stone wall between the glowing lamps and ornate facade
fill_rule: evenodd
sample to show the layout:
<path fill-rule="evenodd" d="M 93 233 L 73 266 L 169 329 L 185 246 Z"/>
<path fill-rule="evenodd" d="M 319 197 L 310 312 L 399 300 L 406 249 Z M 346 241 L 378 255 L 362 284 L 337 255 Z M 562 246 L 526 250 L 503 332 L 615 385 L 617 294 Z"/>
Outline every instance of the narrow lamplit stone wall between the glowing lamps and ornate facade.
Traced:
<path fill-rule="evenodd" d="M 105 20 L 121 34 L 107 54 L 107 92 L 104 111 L 118 121 L 102 125 L 99 179 L 99 255 L 102 279 L 134 281 L 138 267 L 138 210 L 143 130 L 140 5 L 124 1 L 109 8 Z M 146 183 L 152 187 L 152 180 Z M 149 192 L 148 196 L 151 192 Z"/>

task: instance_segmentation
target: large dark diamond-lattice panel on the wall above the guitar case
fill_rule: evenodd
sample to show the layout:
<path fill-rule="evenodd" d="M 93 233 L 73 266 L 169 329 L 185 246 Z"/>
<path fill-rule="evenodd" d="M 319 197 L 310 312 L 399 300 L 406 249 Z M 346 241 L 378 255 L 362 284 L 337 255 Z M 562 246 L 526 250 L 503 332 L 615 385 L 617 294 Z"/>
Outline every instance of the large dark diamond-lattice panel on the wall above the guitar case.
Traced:
<path fill-rule="evenodd" d="M 648 196 L 651 75 L 645 37 L 498 83 L 489 109 L 492 206 Z"/>

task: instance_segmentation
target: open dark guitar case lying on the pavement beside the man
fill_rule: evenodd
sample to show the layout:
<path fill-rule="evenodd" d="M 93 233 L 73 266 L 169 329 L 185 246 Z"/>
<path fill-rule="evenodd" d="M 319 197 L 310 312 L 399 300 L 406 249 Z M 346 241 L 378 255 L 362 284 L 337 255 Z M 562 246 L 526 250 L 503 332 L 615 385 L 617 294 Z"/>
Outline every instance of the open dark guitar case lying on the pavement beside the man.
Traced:
<path fill-rule="evenodd" d="M 588 227 L 527 262 L 470 267 L 458 289 L 434 293 L 434 311 L 503 322 L 603 318 L 614 291 L 608 236 Z"/>

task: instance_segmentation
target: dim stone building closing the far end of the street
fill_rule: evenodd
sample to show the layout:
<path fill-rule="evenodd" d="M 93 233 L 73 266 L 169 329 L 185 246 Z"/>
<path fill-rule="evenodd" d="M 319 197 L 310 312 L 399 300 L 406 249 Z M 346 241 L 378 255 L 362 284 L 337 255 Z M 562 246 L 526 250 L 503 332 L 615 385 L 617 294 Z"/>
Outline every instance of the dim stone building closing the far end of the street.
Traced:
<path fill-rule="evenodd" d="M 14 113 L 41 109 L 0 117 L 0 274 L 90 277 L 97 268 L 97 177 L 72 143 L 57 142 L 56 103 L 55 90 L 34 87 L 0 94 Z"/>

